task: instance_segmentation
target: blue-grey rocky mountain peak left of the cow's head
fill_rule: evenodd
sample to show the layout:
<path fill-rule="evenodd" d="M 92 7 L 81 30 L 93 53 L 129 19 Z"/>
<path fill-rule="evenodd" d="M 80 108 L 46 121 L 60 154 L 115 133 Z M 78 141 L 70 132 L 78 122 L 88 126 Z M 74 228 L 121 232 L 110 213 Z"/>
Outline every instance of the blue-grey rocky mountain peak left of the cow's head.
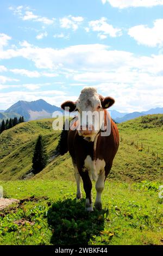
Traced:
<path fill-rule="evenodd" d="M 52 117 L 54 111 L 61 111 L 61 108 L 53 106 L 47 103 L 45 100 L 36 101 L 23 101 L 20 100 L 10 108 L 8 108 L 5 113 L 15 112 L 17 114 L 23 115 L 25 120 L 36 120 L 42 118 Z"/>

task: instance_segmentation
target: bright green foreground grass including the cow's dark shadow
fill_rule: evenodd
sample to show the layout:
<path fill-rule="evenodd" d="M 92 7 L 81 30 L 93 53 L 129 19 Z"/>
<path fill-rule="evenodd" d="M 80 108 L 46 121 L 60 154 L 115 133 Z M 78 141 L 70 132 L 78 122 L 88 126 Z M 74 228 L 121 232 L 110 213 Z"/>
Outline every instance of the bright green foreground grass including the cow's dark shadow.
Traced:
<path fill-rule="evenodd" d="M 21 203 L 0 212 L 0 245 L 163 244 L 157 183 L 106 181 L 104 210 L 90 214 L 84 211 L 85 200 L 74 200 L 74 181 L 3 181 L 1 185 L 6 197 Z"/>

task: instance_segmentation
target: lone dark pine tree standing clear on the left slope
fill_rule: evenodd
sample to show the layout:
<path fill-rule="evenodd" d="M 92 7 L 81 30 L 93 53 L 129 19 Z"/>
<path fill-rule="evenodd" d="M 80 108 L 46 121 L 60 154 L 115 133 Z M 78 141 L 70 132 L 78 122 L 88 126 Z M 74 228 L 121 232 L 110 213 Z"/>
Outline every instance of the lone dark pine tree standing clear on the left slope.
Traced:
<path fill-rule="evenodd" d="M 34 174 L 41 172 L 41 170 L 45 168 L 47 164 L 47 155 L 45 149 L 43 148 L 41 135 L 39 135 L 37 138 L 32 163 Z"/>

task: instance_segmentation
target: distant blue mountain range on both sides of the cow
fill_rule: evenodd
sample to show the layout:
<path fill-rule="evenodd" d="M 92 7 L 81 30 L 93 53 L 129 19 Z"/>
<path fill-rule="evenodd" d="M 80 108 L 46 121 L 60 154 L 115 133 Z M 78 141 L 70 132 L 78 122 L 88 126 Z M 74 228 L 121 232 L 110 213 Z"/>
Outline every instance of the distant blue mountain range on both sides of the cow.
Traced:
<path fill-rule="evenodd" d="M 36 101 L 23 101 L 20 100 L 14 105 L 12 105 L 7 110 L 0 111 L 0 121 L 2 119 L 20 117 L 23 115 L 26 121 L 50 118 L 54 111 L 62 111 L 60 107 L 51 105 L 45 100 L 36 100 Z M 122 123 L 124 121 L 134 119 L 136 117 L 141 117 L 142 115 L 147 114 L 163 114 L 163 107 L 152 108 L 148 111 L 143 112 L 133 112 L 133 113 L 121 113 L 116 110 L 110 110 L 111 118 L 114 119 L 117 123 Z"/>

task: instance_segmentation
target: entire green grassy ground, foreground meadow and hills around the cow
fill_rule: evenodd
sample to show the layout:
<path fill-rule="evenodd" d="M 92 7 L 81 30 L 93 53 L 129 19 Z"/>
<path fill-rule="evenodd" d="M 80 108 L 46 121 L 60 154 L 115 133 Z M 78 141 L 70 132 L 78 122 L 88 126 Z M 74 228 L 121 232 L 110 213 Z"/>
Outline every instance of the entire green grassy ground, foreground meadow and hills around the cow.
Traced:
<path fill-rule="evenodd" d="M 103 210 L 84 211 L 70 155 L 57 156 L 53 119 L 21 123 L 0 135 L 0 185 L 20 203 L 0 211 L 0 245 L 163 245 L 163 115 L 122 124 L 120 148 L 103 192 Z M 39 135 L 47 166 L 32 175 Z M 95 182 L 93 182 L 95 199 Z M 84 191 L 83 196 L 85 197 Z"/>

